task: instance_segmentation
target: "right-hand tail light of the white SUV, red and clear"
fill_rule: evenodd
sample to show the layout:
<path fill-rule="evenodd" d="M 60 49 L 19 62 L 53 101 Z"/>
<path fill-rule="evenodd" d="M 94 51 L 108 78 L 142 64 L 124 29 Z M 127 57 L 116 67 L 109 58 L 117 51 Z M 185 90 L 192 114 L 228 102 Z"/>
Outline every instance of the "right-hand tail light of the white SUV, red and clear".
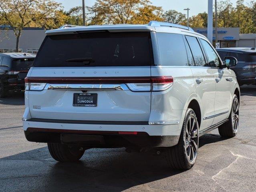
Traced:
<path fill-rule="evenodd" d="M 135 92 L 142 91 L 164 91 L 173 84 L 172 76 L 151 77 L 148 83 L 127 83 L 130 90 Z"/>

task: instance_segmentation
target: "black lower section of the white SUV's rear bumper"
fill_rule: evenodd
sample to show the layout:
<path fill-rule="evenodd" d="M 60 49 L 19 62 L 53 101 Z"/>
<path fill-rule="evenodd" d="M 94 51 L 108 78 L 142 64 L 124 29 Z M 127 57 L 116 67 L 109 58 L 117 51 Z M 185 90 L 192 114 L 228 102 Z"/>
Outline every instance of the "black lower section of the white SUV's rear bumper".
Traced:
<path fill-rule="evenodd" d="M 62 143 L 79 145 L 88 148 L 111 147 L 169 147 L 177 144 L 179 136 L 149 136 L 148 134 L 119 135 L 115 133 L 70 133 L 68 130 L 36 130 L 24 131 L 26 139 L 31 142 Z"/>

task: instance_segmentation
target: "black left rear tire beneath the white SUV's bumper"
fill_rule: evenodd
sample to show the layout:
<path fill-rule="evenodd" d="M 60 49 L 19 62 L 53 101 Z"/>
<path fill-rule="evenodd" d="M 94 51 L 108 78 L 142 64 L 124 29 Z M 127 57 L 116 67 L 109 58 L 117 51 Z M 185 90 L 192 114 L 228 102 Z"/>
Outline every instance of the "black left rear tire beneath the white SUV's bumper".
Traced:
<path fill-rule="evenodd" d="M 71 147 L 59 143 L 47 143 L 48 150 L 52 158 L 59 162 L 74 162 L 78 161 L 85 150 L 79 150 L 79 147 Z"/>

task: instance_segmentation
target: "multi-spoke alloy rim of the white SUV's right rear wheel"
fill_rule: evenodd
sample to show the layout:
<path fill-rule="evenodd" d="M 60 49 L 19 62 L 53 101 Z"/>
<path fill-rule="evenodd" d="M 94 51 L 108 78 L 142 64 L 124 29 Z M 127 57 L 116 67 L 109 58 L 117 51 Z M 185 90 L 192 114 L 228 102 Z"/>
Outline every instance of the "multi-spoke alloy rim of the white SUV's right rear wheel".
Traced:
<path fill-rule="evenodd" d="M 185 135 L 185 148 L 187 159 L 191 164 L 193 164 L 196 160 L 196 156 L 198 154 L 198 122 L 196 117 L 189 116 L 189 120 L 187 121 L 186 126 L 186 135 Z"/>

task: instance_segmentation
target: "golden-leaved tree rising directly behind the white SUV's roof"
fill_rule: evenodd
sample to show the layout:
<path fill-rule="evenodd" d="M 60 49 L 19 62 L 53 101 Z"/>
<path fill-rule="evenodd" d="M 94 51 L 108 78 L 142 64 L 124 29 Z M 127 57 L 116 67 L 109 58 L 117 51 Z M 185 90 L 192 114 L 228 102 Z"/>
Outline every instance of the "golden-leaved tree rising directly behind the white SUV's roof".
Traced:
<path fill-rule="evenodd" d="M 145 24 L 162 21 L 162 8 L 149 0 L 96 0 L 90 9 L 91 24 Z"/>

